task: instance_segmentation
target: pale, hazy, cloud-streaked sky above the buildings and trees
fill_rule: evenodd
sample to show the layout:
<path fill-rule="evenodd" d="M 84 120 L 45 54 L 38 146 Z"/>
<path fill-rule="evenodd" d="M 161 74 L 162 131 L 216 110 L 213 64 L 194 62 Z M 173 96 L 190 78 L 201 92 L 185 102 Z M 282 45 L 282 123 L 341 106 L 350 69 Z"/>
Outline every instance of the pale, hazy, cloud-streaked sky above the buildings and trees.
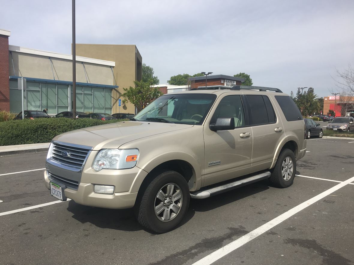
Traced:
<path fill-rule="evenodd" d="M 254 86 L 318 96 L 354 65 L 353 0 L 76 0 L 76 43 L 135 44 L 160 84 L 245 72 Z M 0 0 L 9 44 L 71 53 L 72 1 Z"/>

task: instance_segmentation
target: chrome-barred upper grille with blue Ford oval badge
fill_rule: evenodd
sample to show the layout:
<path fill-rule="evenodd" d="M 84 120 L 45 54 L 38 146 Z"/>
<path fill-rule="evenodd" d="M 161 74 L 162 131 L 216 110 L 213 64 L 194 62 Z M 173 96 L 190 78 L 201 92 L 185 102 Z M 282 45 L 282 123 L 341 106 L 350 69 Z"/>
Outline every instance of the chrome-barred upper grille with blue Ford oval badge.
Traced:
<path fill-rule="evenodd" d="M 89 152 L 89 149 L 53 143 L 52 159 L 60 164 L 81 169 Z"/>

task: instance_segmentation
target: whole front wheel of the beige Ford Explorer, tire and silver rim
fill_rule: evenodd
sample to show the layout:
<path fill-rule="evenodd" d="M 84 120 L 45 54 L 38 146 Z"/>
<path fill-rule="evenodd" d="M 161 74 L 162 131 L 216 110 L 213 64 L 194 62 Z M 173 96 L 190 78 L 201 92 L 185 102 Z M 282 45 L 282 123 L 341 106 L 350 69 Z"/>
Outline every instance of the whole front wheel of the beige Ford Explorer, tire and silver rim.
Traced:
<path fill-rule="evenodd" d="M 154 232 L 170 231 L 183 219 L 189 199 L 185 178 L 176 171 L 163 172 L 145 189 L 138 205 L 138 222 Z"/>

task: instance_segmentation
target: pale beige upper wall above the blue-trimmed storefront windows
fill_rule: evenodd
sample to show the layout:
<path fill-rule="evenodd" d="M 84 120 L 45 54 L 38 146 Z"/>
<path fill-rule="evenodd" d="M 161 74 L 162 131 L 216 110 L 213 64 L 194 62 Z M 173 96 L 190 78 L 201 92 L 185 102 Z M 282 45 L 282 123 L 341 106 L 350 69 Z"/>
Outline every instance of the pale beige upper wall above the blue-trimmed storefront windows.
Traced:
<path fill-rule="evenodd" d="M 72 81 L 73 80 L 73 63 L 72 60 L 53 58 L 53 71 L 51 62 L 46 56 L 28 54 L 12 51 L 9 56 L 9 75 L 34 77 L 53 80 L 53 72 L 55 80 Z M 13 64 L 12 64 L 13 61 Z M 110 66 L 102 64 L 85 63 L 87 77 L 89 83 L 105 84 L 113 86 L 114 79 Z M 15 73 L 13 69 L 15 68 Z M 76 61 L 76 82 L 86 83 L 84 67 L 80 61 Z"/>

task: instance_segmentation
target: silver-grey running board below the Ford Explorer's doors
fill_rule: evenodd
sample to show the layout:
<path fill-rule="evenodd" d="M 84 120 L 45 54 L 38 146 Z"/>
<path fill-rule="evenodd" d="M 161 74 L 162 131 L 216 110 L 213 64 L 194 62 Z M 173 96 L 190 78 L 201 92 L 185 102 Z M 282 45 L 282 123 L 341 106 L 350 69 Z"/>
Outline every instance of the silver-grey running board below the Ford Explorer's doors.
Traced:
<path fill-rule="evenodd" d="M 218 187 L 213 187 L 210 189 L 205 189 L 205 190 L 197 190 L 196 192 L 191 192 L 190 193 L 190 198 L 192 199 L 205 199 L 205 198 L 209 198 L 210 196 L 219 194 L 219 193 L 223 193 L 223 192 L 227 192 L 229 190 L 235 189 L 235 188 L 239 188 L 242 187 L 244 185 L 247 184 L 251 184 L 253 182 L 257 182 L 260 181 L 262 179 L 266 179 L 269 178 L 271 175 L 271 173 L 269 171 L 267 172 L 263 172 L 248 178 L 244 178 L 238 181 L 234 181 L 234 182 L 230 182 Z"/>

